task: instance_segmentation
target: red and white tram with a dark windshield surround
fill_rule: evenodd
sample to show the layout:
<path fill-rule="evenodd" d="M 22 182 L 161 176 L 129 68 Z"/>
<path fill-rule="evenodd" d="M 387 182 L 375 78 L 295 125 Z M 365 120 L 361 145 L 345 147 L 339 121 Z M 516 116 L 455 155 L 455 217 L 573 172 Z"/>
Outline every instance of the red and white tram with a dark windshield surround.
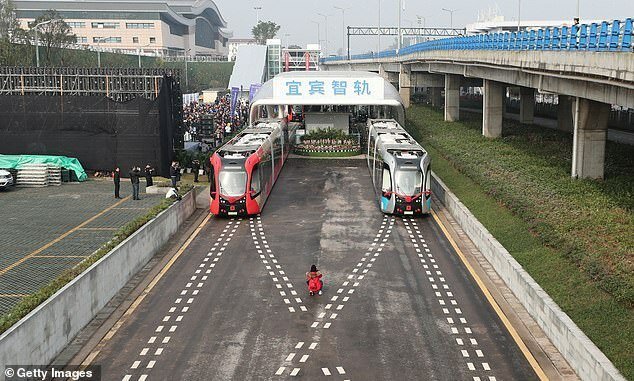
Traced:
<path fill-rule="evenodd" d="M 292 149 L 295 128 L 286 119 L 261 119 L 211 156 L 212 214 L 248 216 L 262 211 Z"/>

